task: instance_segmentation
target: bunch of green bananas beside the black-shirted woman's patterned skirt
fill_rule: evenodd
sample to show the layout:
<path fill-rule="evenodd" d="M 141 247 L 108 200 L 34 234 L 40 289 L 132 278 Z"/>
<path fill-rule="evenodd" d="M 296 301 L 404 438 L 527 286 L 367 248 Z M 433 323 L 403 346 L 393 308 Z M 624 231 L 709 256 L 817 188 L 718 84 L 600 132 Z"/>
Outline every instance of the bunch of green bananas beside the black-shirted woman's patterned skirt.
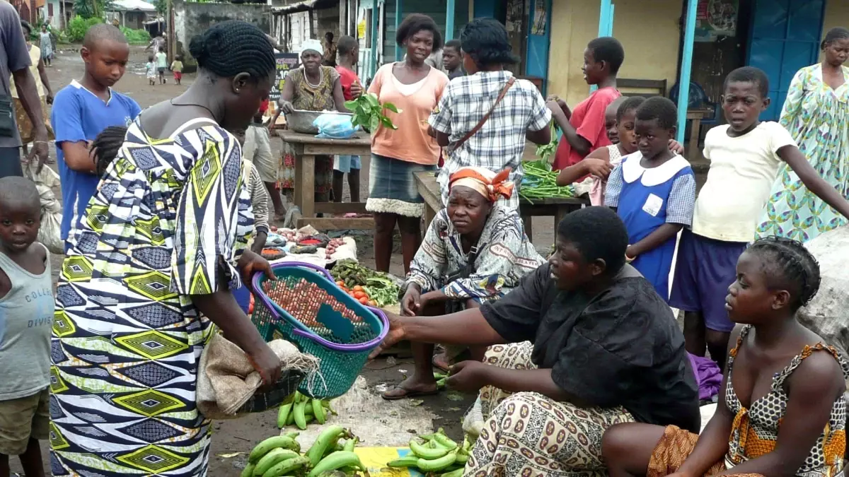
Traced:
<path fill-rule="evenodd" d="M 436 434 L 419 435 L 410 441 L 410 453 L 386 463 L 391 468 L 419 469 L 423 474 L 441 477 L 460 477 L 469 460 L 471 443 L 465 439 L 463 446 L 452 441 L 442 428 Z"/>

